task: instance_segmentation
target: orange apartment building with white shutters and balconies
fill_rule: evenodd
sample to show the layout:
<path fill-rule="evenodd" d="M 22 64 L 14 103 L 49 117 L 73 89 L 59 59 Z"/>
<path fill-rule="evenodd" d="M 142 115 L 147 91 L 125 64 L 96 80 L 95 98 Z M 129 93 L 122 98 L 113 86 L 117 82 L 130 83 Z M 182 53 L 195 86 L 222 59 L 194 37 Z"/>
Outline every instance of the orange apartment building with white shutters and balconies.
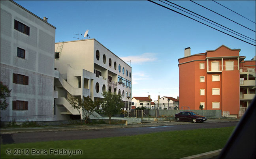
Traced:
<path fill-rule="evenodd" d="M 244 61 L 240 49 L 225 45 L 213 51 L 179 58 L 180 108 L 222 110 L 229 117 L 243 115 L 255 96 L 255 57 Z M 241 107 L 241 108 L 240 108 Z"/>

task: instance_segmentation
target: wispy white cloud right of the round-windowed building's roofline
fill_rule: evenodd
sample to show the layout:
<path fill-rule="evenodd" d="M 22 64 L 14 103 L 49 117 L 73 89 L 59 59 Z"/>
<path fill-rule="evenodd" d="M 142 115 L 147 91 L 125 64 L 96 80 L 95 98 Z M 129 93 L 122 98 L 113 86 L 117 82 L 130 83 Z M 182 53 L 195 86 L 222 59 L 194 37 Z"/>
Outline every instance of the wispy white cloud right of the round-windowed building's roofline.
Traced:
<path fill-rule="evenodd" d="M 120 57 L 123 61 L 130 61 L 132 64 L 142 64 L 145 62 L 152 62 L 156 60 L 155 57 L 156 54 L 154 53 L 144 53 L 137 56 L 126 56 L 126 57 Z"/>

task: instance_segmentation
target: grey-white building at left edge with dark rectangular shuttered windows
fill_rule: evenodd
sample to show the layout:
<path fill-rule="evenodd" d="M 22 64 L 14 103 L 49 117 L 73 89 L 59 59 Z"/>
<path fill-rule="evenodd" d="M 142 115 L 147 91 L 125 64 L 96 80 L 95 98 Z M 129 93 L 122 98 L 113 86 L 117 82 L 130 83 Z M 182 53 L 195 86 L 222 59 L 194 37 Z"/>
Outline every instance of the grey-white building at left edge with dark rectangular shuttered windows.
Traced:
<path fill-rule="evenodd" d="M 11 89 L 1 121 L 54 120 L 55 27 L 1 0 L 1 81 Z"/>

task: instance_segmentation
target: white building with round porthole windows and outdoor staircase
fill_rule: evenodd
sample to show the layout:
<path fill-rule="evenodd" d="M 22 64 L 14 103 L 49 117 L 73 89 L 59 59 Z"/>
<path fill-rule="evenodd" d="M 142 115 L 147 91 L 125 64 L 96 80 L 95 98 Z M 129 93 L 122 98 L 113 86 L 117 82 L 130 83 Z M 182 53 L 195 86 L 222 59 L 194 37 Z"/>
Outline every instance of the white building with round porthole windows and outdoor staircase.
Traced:
<path fill-rule="evenodd" d="M 69 104 L 68 97 L 90 96 L 95 100 L 102 98 L 105 91 L 121 94 L 124 110 L 130 110 L 132 67 L 96 39 L 55 43 L 55 69 L 59 71 L 59 78 L 55 79 L 56 120 L 78 117 L 79 112 Z"/>

